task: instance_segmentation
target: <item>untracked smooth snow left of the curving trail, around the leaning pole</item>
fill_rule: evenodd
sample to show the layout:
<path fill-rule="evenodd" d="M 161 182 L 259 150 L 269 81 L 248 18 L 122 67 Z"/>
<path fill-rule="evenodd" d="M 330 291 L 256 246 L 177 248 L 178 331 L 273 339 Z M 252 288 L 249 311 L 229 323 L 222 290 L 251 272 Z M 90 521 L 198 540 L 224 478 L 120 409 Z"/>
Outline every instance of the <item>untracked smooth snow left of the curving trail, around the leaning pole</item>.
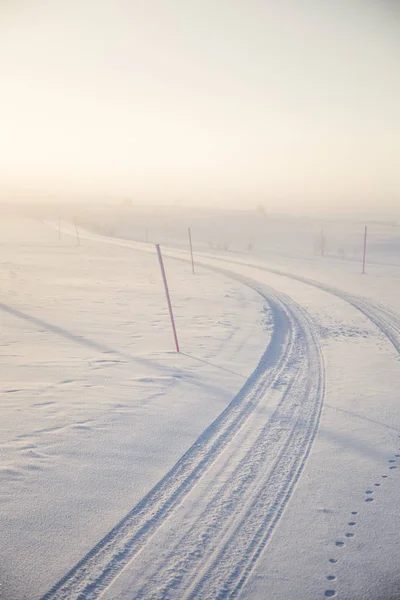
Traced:
<path fill-rule="evenodd" d="M 38 598 L 242 387 L 270 338 L 256 292 L 155 256 L 3 222 L 0 596 Z M 240 318 L 239 318 L 240 316 Z"/>

